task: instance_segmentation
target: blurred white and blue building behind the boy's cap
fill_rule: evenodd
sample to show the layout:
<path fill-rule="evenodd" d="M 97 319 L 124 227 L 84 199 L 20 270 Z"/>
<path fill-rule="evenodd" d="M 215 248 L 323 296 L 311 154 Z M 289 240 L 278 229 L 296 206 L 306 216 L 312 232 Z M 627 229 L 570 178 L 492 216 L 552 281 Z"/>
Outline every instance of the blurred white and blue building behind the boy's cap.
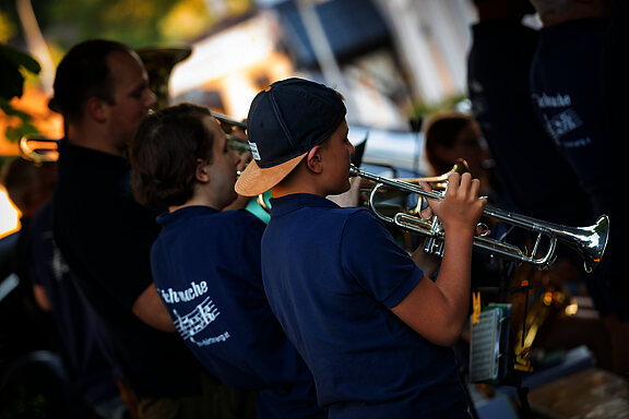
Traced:
<path fill-rule="evenodd" d="M 193 43 L 173 71 L 174 101 L 245 118 L 254 94 L 292 75 L 341 91 L 349 122 L 408 129 L 413 103 L 465 92 L 470 0 L 285 0 Z"/>

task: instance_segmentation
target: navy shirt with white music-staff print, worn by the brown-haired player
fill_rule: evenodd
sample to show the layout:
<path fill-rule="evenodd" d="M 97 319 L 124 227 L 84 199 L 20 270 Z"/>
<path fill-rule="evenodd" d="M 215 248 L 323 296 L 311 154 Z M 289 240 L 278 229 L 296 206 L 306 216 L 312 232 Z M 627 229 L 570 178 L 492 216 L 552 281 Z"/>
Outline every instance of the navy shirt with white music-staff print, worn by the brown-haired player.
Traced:
<path fill-rule="evenodd" d="M 188 347 L 225 383 L 257 391 L 264 418 L 323 418 L 312 376 L 273 315 L 260 276 L 264 223 L 190 206 L 157 217 L 151 265 Z"/>

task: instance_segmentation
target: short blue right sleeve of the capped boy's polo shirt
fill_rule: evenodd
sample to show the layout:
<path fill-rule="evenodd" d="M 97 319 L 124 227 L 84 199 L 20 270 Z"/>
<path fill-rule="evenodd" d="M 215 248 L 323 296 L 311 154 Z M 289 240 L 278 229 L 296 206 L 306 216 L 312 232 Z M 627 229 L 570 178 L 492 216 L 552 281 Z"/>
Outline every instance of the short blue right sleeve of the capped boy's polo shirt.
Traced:
<path fill-rule="evenodd" d="M 347 218 L 341 248 L 347 276 L 388 308 L 397 306 L 424 276 L 368 211 L 357 211 Z"/>

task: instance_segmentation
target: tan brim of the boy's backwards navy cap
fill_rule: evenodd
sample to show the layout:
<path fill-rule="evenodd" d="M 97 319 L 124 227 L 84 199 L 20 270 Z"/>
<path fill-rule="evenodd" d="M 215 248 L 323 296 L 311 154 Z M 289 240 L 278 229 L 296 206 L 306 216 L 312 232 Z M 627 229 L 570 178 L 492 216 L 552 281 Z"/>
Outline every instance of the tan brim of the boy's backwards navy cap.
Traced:
<path fill-rule="evenodd" d="M 268 169 L 261 169 L 256 160 L 251 160 L 236 181 L 236 193 L 242 196 L 257 196 L 269 191 L 293 171 L 307 154 L 308 152 Z"/>

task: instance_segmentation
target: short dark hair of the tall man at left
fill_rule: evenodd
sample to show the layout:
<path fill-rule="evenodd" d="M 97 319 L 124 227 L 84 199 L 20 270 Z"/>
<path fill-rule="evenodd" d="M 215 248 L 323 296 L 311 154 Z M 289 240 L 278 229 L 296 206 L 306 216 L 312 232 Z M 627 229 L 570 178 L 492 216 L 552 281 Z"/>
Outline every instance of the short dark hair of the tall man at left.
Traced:
<path fill-rule="evenodd" d="M 50 109 L 66 118 L 80 119 L 91 97 L 114 104 L 114 82 L 107 62 L 114 51 L 134 53 L 127 45 L 107 39 L 90 39 L 72 47 L 57 67 Z"/>

